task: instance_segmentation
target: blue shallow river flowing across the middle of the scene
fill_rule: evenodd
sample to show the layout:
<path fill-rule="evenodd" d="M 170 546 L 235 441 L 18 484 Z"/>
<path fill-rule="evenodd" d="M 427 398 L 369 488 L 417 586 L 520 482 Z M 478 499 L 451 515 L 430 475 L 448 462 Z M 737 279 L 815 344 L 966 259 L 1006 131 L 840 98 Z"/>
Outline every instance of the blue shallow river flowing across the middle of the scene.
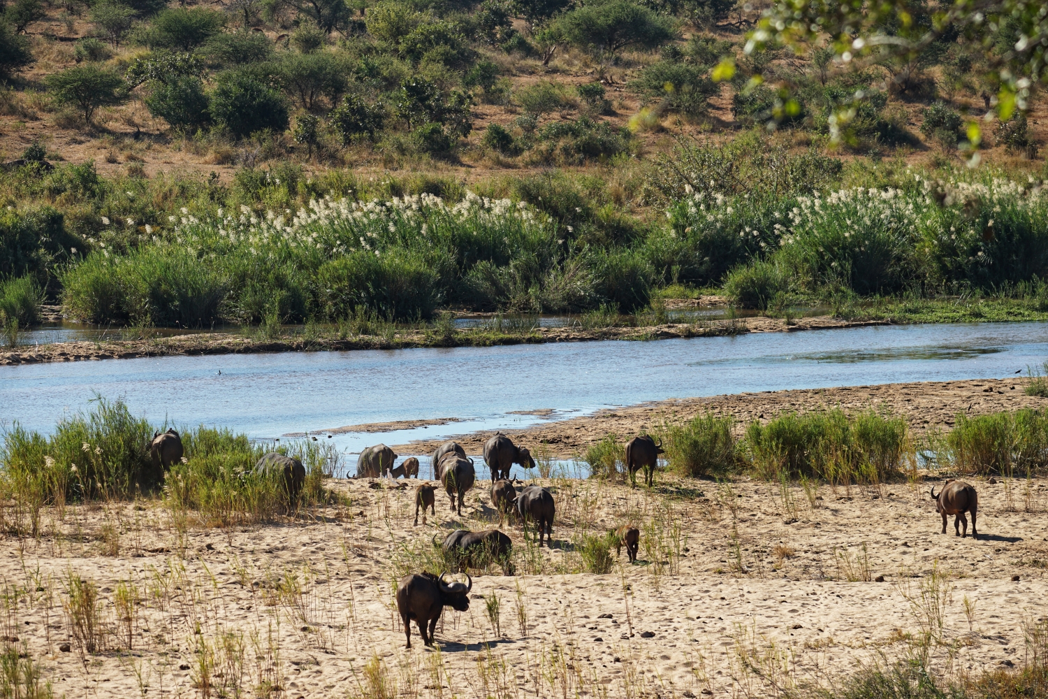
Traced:
<path fill-rule="evenodd" d="M 0 424 L 48 432 L 96 394 L 122 397 L 155 423 L 223 425 L 258 439 L 325 435 L 352 471 L 350 455 L 377 442 L 524 428 L 674 397 L 1005 377 L 1046 357 L 1048 323 L 992 323 L 22 365 L 0 367 Z M 542 410 L 552 412 L 528 414 Z M 458 421 L 326 437 L 346 425 L 437 418 Z"/>

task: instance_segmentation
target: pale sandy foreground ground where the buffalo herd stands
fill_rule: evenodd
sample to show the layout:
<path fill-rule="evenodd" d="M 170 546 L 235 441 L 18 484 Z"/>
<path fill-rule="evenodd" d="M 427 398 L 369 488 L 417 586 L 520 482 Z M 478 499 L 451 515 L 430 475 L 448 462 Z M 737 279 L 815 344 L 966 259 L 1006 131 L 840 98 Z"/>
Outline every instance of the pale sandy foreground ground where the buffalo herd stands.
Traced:
<path fill-rule="evenodd" d="M 266 681 L 284 697 L 761 697 L 768 680 L 825 684 L 913 652 L 922 629 L 940 672 L 1018 665 L 1048 598 L 1046 483 L 973 482 L 978 541 L 939 533 L 924 482 L 784 496 L 544 481 L 552 548 L 505 523 L 517 575 L 472 571 L 439 650 L 417 632 L 405 649 L 392 586 L 433 537 L 499 526 L 484 481 L 462 518 L 438 494 L 418 526 L 414 483 L 388 480 L 329 481 L 349 504 L 263 526 L 206 528 L 155 501 L 45 510 L 39 538 L 0 541 L 0 631 L 67 697 L 257 696 Z M 641 529 L 637 564 L 578 572 L 577 538 L 621 523 Z M 100 590 L 95 653 L 72 634 L 70 576 Z"/>

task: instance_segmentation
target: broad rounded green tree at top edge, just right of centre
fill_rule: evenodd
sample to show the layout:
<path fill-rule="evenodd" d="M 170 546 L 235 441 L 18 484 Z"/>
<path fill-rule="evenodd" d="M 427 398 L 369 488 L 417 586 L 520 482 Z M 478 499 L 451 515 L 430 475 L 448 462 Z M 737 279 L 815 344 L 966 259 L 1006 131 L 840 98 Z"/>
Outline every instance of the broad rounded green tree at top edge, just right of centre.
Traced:
<path fill-rule="evenodd" d="M 674 37 L 673 21 L 629 0 L 573 9 L 558 20 L 564 38 L 593 53 L 613 56 L 627 46 L 654 48 Z"/>

